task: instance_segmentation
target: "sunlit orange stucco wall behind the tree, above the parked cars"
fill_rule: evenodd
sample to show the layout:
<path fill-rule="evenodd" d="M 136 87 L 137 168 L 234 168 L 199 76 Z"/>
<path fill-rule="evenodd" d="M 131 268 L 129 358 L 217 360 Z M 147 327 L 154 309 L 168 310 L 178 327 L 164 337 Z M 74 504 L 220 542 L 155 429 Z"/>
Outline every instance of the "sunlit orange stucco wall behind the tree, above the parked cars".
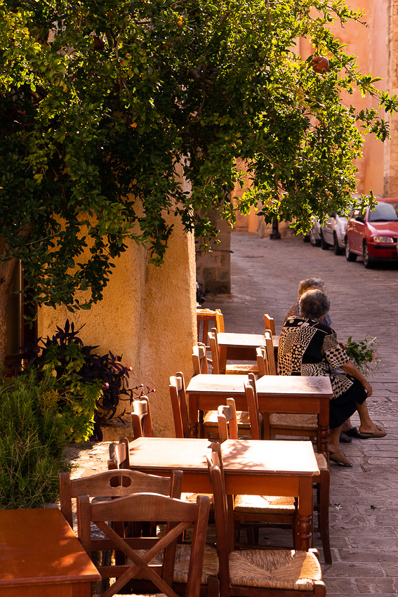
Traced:
<path fill-rule="evenodd" d="M 398 27 L 398 14 L 394 10 L 393 3 L 387 0 L 362 0 L 347 2 L 353 10 L 363 11 L 361 19 L 366 22 L 350 22 L 342 27 L 339 22 L 331 26 L 331 30 L 340 39 L 342 44 L 347 44 L 345 51 L 349 55 L 357 56 L 357 64 L 364 74 L 373 74 L 373 77 L 381 77 L 383 80 L 376 82 L 376 86 L 394 94 L 398 91 L 397 63 L 398 63 L 398 37 L 395 39 Z M 303 60 L 314 52 L 311 44 L 305 40 L 298 40 L 297 52 Z M 347 104 L 352 103 L 361 108 L 377 108 L 377 103 L 372 98 L 361 98 L 360 93 L 353 96 L 343 97 Z M 398 117 L 387 117 L 391 121 L 392 140 L 382 143 L 373 135 L 364 138 L 364 157 L 357 162 L 358 183 L 357 192 L 374 195 L 394 196 L 398 195 L 398 152 L 395 150 L 395 143 L 398 144 Z M 241 196 L 241 190 L 235 189 L 235 195 Z M 237 229 L 247 230 L 265 235 L 270 232 L 270 227 L 258 223 L 256 209 L 251 210 L 248 216 L 238 216 Z M 286 233 L 286 225 L 281 223 L 279 229 Z"/>

